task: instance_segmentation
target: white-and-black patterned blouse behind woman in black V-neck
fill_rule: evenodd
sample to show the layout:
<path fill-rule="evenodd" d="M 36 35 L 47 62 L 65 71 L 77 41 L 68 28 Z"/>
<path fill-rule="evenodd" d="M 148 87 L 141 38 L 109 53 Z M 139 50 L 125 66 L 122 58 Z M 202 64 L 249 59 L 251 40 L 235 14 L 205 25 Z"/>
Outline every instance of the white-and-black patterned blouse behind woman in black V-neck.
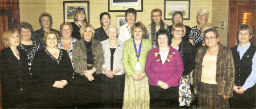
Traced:
<path fill-rule="evenodd" d="M 57 48 L 64 49 L 63 48 L 63 44 L 61 43 L 61 38 L 62 37 L 59 38 L 59 43 L 58 43 Z M 70 47 L 67 49 L 67 54 L 70 57 L 70 60 L 71 60 L 73 68 L 74 68 L 74 65 L 73 65 L 73 61 L 72 61 L 72 50 L 73 50 L 73 45 L 74 45 L 75 41 L 78 41 L 77 38 L 72 37 L 72 41 L 70 43 Z"/>

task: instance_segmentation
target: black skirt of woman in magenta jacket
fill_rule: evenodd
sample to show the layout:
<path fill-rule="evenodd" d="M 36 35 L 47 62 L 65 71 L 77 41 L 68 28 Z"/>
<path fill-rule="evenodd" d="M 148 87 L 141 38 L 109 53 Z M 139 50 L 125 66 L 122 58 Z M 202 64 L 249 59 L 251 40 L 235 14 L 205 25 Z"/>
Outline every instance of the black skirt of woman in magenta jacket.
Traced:
<path fill-rule="evenodd" d="M 178 86 L 162 89 L 149 84 L 150 108 L 181 108 L 178 102 Z"/>

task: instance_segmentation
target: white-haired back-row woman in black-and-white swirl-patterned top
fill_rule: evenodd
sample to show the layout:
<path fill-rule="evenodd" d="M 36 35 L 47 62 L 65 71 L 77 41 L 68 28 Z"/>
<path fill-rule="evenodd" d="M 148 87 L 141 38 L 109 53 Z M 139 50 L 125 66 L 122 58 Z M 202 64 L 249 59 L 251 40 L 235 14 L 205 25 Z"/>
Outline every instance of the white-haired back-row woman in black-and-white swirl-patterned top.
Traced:
<path fill-rule="evenodd" d="M 201 32 L 199 30 L 200 26 L 205 24 L 209 17 L 209 11 L 206 9 L 200 9 L 197 11 L 197 26 L 191 28 L 191 32 L 189 35 L 189 42 L 192 45 L 196 43 L 202 43 L 203 37 L 201 36 Z"/>

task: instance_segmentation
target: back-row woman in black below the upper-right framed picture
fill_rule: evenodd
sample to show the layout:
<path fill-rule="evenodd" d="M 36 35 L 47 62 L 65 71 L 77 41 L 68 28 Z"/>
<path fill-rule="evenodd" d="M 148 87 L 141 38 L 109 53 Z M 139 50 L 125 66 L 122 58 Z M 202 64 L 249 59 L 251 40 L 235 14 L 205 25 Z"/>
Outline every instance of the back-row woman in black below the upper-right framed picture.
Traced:
<path fill-rule="evenodd" d="M 174 24 L 183 23 L 183 14 L 182 14 L 182 12 L 181 12 L 181 11 L 176 11 L 174 14 L 172 14 L 171 22 L 172 22 L 172 25 L 169 26 L 169 29 L 170 29 L 169 31 L 170 31 L 170 33 L 171 33 L 171 28 L 172 28 L 172 26 L 173 26 Z M 191 28 L 190 28 L 189 26 L 186 26 L 186 25 L 185 25 L 185 28 L 186 28 L 186 29 L 185 29 L 186 32 L 185 32 L 184 37 L 182 37 L 182 38 L 183 38 L 185 41 L 189 41 L 189 34 L 190 34 Z M 173 37 L 172 34 L 170 34 L 170 36 Z"/>

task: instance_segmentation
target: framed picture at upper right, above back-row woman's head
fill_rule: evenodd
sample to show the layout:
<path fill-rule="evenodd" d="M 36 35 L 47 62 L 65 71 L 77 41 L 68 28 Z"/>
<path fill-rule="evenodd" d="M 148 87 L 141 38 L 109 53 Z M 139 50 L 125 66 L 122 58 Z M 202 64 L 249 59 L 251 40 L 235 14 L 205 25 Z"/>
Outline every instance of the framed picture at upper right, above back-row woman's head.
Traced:
<path fill-rule="evenodd" d="M 190 20 L 190 0 L 164 0 L 164 20 L 171 20 L 176 11 L 183 13 L 184 20 Z"/>

